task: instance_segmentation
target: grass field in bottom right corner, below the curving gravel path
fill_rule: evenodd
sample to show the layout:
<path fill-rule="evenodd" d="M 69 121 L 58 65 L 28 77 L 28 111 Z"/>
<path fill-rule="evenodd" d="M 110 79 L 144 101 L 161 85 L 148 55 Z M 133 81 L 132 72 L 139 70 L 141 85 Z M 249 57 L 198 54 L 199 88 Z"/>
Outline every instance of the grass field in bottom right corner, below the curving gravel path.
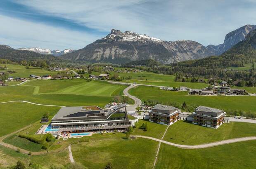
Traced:
<path fill-rule="evenodd" d="M 256 141 L 196 150 L 161 144 L 156 169 L 253 169 Z"/>

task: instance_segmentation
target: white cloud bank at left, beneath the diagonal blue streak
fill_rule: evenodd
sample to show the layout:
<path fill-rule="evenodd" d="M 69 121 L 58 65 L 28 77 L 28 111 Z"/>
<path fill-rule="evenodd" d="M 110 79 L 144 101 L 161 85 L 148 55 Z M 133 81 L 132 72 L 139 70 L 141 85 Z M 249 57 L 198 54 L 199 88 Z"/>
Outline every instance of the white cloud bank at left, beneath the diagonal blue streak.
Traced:
<path fill-rule="evenodd" d="M 88 33 L 70 31 L 0 15 L 0 42 L 11 47 L 41 47 L 47 49 L 80 49 L 100 38 Z"/>

